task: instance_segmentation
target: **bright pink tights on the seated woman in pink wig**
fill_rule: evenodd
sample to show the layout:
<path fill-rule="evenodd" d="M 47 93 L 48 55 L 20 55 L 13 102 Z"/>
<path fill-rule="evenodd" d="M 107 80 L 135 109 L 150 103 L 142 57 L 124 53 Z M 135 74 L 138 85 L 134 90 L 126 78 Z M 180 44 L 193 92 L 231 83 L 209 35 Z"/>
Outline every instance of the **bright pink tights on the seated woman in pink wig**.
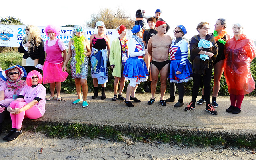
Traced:
<path fill-rule="evenodd" d="M 10 107 L 11 108 L 22 108 L 26 104 L 27 104 L 26 102 L 12 101 L 12 103 L 10 104 Z M 12 128 L 21 128 L 24 118 L 37 119 L 40 117 L 42 117 L 42 115 L 36 106 L 33 106 L 30 109 L 20 112 L 19 114 L 16 114 L 16 115 L 11 114 Z"/>

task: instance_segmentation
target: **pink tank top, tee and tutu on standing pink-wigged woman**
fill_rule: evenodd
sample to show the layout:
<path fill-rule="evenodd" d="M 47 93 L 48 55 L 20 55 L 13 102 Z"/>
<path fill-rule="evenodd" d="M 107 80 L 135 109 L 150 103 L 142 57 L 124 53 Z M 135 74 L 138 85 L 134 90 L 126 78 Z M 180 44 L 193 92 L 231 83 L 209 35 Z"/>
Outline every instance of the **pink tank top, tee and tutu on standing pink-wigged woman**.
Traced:
<path fill-rule="evenodd" d="M 49 46 L 51 43 L 51 45 Z M 55 43 L 54 43 L 55 42 Z M 52 45 L 53 44 L 53 45 Z M 62 51 L 65 46 L 58 38 L 45 43 L 46 60 L 43 66 L 43 83 L 63 82 L 68 77 L 67 72 L 62 72 Z"/>

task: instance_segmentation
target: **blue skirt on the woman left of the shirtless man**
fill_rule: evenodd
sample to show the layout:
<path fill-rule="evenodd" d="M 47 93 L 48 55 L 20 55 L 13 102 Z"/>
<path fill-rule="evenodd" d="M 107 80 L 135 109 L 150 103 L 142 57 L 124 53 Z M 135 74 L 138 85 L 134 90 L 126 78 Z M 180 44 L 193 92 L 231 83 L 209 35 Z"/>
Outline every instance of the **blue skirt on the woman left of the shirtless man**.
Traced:
<path fill-rule="evenodd" d="M 146 77 L 149 74 L 144 60 L 138 59 L 138 56 L 136 56 L 129 57 L 126 60 L 123 75 L 128 80 L 139 79 L 143 82 L 146 81 Z"/>

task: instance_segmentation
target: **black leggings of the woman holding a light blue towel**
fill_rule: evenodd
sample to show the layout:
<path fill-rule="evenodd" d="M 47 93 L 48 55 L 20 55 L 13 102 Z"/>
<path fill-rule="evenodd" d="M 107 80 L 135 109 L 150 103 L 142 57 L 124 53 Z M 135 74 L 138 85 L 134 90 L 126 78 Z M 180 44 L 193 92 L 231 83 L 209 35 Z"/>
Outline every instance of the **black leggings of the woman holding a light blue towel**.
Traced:
<path fill-rule="evenodd" d="M 203 75 L 204 99 L 205 99 L 206 105 L 210 104 L 211 78 L 212 78 L 212 65 L 210 65 L 209 68 L 205 69 L 205 75 Z M 200 82 L 201 82 L 201 74 L 193 73 L 193 89 L 192 89 L 192 99 L 191 99 L 193 103 L 196 103 Z"/>

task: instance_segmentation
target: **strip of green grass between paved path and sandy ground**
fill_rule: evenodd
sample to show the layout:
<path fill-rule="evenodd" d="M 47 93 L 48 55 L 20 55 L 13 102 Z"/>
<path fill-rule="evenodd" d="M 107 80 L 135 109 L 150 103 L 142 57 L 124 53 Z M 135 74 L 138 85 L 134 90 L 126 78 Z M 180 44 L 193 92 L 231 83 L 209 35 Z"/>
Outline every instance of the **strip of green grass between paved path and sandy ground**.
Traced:
<path fill-rule="evenodd" d="M 4 122 L 7 123 L 7 122 Z M 146 133 L 146 134 L 134 134 L 134 133 L 122 133 L 117 131 L 111 126 L 94 126 L 84 125 L 80 123 L 74 124 L 45 124 L 39 126 L 26 126 L 24 131 L 41 132 L 48 137 L 58 138 L 80 138 L 88 137 L 90 139 L 104 137 L 106 139 L 115 140 L 117 142 L 125 141 L 126 137 L 133 141 L 139 141 L 143 143 L 153 142 L 169 143 L 171 145 L 179 145 L 183 147 L 191 146 L 236 146 L 240 148 L 256 149 L 256 140 L 248 140 L 246 137 L 237 139 L 224 139 L 219 137 L 208 137 L 206 135 L 198 136 L 183 136 L 183 135 L 168 135 L 166 133 Z"/>

